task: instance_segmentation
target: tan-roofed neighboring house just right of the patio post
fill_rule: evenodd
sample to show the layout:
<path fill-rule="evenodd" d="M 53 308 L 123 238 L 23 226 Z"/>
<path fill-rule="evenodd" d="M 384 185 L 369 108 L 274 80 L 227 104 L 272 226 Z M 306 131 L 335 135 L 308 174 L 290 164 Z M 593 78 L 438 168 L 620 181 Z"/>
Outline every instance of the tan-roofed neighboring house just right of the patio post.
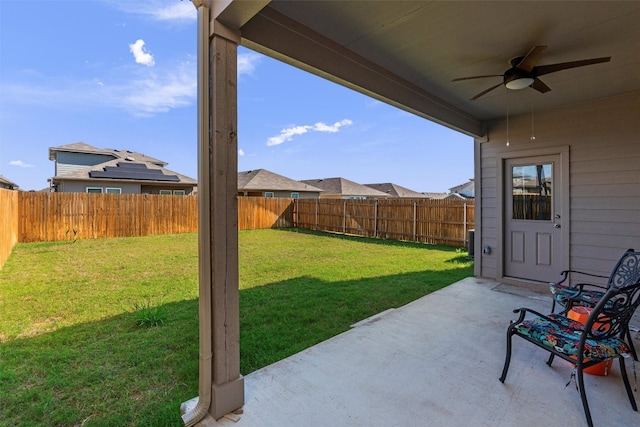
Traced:
<path fill-rule="evenodd" d="M 238 195 L 317 199 L 323 190 L 266 169 L 238 173 Z"/>

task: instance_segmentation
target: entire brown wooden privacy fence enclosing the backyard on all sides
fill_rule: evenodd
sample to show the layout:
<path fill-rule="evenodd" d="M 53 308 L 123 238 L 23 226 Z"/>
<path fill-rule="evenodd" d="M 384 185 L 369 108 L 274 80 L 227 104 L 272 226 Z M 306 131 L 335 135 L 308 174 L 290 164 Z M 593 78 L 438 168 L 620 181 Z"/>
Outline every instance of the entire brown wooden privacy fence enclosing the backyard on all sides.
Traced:
<path fill-rule="evenodd" d="M 301 227 L 465 246 L 473 201 L 238 197 L 238 229 Z M 0 192 L 0 265 L 18 242 L 194 233 L 195 196 Z"/>

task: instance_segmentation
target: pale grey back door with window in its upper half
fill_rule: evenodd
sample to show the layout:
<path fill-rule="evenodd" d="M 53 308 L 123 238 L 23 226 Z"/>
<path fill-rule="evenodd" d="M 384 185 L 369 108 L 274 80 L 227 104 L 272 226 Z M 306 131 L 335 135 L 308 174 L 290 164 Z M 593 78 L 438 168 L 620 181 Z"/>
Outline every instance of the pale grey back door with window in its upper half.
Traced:
<path fill-rule="evenodd" d="M 505 159 L 504 275 L 552 282 L 562 270 L 560 155 Z"/>

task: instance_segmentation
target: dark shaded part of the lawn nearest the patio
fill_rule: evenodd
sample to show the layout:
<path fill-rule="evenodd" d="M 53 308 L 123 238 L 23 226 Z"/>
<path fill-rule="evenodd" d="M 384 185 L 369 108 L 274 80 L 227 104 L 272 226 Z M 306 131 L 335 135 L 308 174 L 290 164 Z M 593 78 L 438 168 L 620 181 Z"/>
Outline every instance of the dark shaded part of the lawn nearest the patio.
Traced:
<path fill-rule="evenodd" d="M 469 267 L 326 282 L 296 277 L 240 291 L 241 371 L 281 360 L 470 275 Z M 179 426 L 198 390 L 198 301 L 0 344 L 0 419 L 12 426 Z"/>

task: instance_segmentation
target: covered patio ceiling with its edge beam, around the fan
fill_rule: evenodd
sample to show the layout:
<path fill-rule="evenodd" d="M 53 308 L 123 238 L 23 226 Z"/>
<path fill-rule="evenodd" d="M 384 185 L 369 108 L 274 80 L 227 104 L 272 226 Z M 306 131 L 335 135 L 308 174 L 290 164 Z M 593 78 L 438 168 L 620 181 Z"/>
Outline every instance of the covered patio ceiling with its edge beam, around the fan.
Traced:
<path fill-rule="evenodd" d="M 640 2 L 220 1 L 242 45 L 473 136 L 485 122 L 640 90 Z M 509 60 L 546 45 L 538 65 L 611 56 L 499 84 Z M 452 82 L 459 77 L 498 75 Z"/>

